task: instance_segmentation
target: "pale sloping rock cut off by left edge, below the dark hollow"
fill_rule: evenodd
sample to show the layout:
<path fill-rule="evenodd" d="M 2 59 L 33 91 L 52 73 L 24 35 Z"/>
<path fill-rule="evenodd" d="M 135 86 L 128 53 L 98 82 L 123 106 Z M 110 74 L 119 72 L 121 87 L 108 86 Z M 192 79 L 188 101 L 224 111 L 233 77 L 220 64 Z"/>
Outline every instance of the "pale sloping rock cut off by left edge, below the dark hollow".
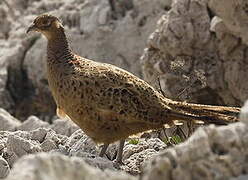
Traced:
<path fill-rule="evenodd" d="M 0 131 L 13 131 L 21 122 L 0 108 L 0 124 Z"/>

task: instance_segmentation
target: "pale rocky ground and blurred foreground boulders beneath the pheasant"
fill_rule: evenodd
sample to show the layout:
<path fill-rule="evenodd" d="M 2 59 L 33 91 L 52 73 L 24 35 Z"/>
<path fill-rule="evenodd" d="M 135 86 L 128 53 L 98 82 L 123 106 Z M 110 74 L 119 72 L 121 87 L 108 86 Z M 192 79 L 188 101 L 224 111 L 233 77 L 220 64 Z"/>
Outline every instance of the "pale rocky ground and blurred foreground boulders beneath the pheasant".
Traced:
<path fill-rule="evenodd" d="M 186 142 L 166 150 L 163 150 L 166 145 L 158 138 L 133 141 L 136 143 L 126 142 L 123 156 L 125 165 L 122 165 L 121 169 L 137 174 L 140 172 L 140 166 L 144 165 L 138 177 L 127 175 L 121 171 L 112 171 L 114 167 L 110 161 L 97 158 L 94 154 L 91 154 L 95 145 L 87 143 L 90 141 L 87 140 L 86 135 L 81 130 L 75 131 L 69 138 L 44 128 L 30 132 L 2 131 L 0 133 L 0 153 L 3 156 L 0 159 L 0 175 L 6 177 L 10 166 L 13 169 L 10 170 L 7 180 L 44 178 L 75 180 L 82 178 L 242 180 L 248 176 L 247 112 L 248 102 L 242 108 L 242 122 L 221 127 L 214 125 L 201 127 Z M 88 153 L 91 156 L 86 158 L 86 156 L 81 156 L 82 153 L 74 154 L 79 157 L 74 155 L 68 157 L 59 153 L 27 155 L 27 153 L 40 151 L 40 144 L 46 142 L 46 140 L 54 143 L 53 148 L 58 148 L 61 145 L 68 152 L 74 149 L 74 153 L 76 151 L 82 152 L 81 149 L 84 149 L 85 154 Z M 11 142 L 16 144 L 13 145 Z M 7 149 L 5 149 L 6 146 Z M 9 146 L 11 146 L 9 149 L 14 152 L 14 155 L 12 155 L 15 158 L 14 166 L 10 162 L 9 156 L 6 156 L 10 152 L 8 151 Z M 71 146 L 71 148 L 68 146 Z M 47 149 L 47 151 L 53 152 L 51 149 Z M 46 150 L 41 148 L 41 151 Z M 93 151 L 97 151 L 97 149 Z M 159 151 L 160 153 L 158 153 Z M 17 160 L 17 156 L 21 158 Z M 99 169 L 104 169 L 104 171 Z"/>

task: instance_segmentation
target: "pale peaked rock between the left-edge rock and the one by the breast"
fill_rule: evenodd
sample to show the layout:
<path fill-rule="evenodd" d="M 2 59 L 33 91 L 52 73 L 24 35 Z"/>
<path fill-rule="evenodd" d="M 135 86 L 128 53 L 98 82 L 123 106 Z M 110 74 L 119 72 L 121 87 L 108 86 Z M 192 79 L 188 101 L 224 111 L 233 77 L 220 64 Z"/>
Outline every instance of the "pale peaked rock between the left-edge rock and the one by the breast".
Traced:
<path fill-rule="evenodd" d="M 17 127 L 18 130 L 22 131 L 32 131 L 37 128 L 48 128 L 49 124 L 40 120 L 36 116 L 30 116 L 26 121 L 24 121 L 20 126 Z"/>

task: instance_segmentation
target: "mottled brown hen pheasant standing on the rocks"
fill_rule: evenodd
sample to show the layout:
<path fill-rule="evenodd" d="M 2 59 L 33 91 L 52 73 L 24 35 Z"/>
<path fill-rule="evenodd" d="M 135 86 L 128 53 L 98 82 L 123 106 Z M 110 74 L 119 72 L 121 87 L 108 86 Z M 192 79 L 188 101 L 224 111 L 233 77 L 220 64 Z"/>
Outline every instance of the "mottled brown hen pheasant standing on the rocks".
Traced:
<path fill-rule="evenodd" d="M 125 138 L 172 126 L 178 120 L 238 121 L 240 108 L 173 101 L 121 68 L 74 54 L 61 21 L 53 15 L 35 18 L 27 33 L 30 31 L 38 31 L 48 40 L 47 77 L 58 115 L 69 116 L 96 143 L 104 143 L 100 156 L 110 143 L 120 140 L 120 162 Z"/>

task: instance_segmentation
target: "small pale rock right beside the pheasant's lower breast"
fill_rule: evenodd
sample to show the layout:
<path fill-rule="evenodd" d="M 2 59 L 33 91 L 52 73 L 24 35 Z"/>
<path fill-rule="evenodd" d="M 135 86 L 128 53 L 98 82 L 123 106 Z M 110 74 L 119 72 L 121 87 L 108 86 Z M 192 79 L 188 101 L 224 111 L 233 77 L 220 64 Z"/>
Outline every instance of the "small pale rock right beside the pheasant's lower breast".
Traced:
<path fill-rule="evenodd" d="M 57 134 L 62 134 L 65 136 L 71 136 L 79 127 L 72 122 L 70 119 L 56 119 L 53 121 L 51 125 L 51 129 L 53 129 Z"/>

